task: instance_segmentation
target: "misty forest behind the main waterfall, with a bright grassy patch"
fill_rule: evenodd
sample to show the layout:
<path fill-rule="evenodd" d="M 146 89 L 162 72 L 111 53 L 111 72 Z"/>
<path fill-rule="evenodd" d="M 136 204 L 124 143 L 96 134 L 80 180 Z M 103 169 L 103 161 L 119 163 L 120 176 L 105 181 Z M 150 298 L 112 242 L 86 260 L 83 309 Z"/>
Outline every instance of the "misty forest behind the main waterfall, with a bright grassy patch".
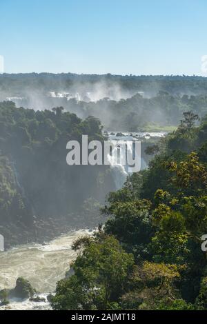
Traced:
<path fill-rule="evenodd" d="M 70 99 L 64 103 L 66 110 L 76 112 L 79 116 L 95 116 L 101 120 L 107 130 L 125 132 L 150 132 L 173 130 L 179 125 L 182 114 L 193 110 L 204 117 L 207 109 L 205 96 L 172 96 L 159 91 L 152 98 L 135 94 L 131 98 L 119 101 L 108 98 L 97 102 L 83 102 Z"/>

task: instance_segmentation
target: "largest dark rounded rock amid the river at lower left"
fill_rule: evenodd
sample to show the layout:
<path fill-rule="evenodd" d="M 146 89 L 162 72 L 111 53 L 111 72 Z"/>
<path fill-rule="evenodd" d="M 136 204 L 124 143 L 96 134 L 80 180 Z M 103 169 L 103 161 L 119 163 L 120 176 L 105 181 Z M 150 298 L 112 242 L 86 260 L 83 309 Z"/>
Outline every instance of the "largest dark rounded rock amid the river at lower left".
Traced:
<path fill-rule="evenodd" d="M 23 278 L 18 278 L 16 282 L 16 287 L 13 290 L 10 290 L 10 296 L 26 299 L 32 298 L 35 294 L 35 290 L 32 288 L 30 282 Z"/>

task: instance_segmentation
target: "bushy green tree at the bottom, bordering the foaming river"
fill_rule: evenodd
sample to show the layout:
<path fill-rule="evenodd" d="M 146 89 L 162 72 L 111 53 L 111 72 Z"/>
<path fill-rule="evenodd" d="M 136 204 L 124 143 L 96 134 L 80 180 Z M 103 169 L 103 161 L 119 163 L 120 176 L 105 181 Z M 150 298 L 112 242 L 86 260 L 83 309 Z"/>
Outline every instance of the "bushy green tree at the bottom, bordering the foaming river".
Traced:
<path fill-rule="evenodd" d="M 55 310 L 108 310 L 124 293 L 134 259 L 113 236 L 85 245 L 72 268 L 75 274 L 59 281 L 52 298 Z"/>

